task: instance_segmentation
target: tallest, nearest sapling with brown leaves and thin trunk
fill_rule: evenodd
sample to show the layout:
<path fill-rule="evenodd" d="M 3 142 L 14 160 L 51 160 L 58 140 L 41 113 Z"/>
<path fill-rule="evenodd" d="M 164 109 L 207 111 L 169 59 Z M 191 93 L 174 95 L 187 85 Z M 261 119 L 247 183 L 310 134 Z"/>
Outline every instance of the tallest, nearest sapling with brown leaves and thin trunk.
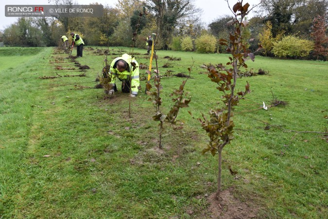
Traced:
<path fill-rule="evenodd" d="M 226 0 L 227 1 L 227 0 Z M 226 63 L 227 68 L 223 64 L 216 66 L 203 66 L 207 69 L 208 77 L 214 82 L 216 89 L 222 92 L 222 101 L 224 106 L 218 109 L 209 111 L 209 118 L 207 119 L 203 114 L 203 119 L 198 119 L 202 128 L 207 132 L 209 136 L 209 144 L 203 150 L 203 153 L 208 151 L 213 156 L 218 153 L 218 183 L 216 199 L 220 198 L 221 193 L 221 170 L 222 170 L 222 150 L 224 146 L 228 145 L 232 139 L 234 139 L 235 124 L 232 120 L 234 107 L 238 105 L 239 101 L 244 98 L 247 93 L 250 93 L 250 86 L 247 82 L 244 91 L 235 91 L 238 71 L 240 68 L 247 68 L 245 61 L 249 57 L 254 61 L 254 54 L 250 50 L 246 49 L 242 38 L 243 29 L 247 26 L 248 21 L 245 16 L 253 8 L 248 10 L 249 4 L 242 5 L 242 0 L 238 1 L 232 9 L 234 18 L 229 21 L 230 25 L 234 25 L 234 31 L 230 33 L 229 40 L 220 39 L 221 45 L 227 46 L 226 51 L 231 54 L 229 56 L 229 62 Z"/>

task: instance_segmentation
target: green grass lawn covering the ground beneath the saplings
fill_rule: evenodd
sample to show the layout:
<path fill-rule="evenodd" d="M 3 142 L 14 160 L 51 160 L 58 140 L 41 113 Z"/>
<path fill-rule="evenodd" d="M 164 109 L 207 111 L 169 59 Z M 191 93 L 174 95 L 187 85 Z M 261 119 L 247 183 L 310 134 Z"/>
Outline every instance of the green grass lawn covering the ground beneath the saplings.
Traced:
<path fill-rule="evenodd" d="M 200 118 L 222 104 L 200 65 L 226 63 L 228 55 L 157 51 L 158 66 L 169 62 L 174 73 L 187 74 L 194 62 L 185 87 L 190 108 L 178 115 L 184 128 L 173 131 L 165 125 L 159 150 L 158 123 L 144 94 L 145 81 L 131 101 L 130 119 L 121 83 L 109 99 L 103 89 L 90 89 L 98 83 L 95 78 L 105 58 L 94 48 L 85 47 L 84 57 L 76 59 L 90 67 L 86 77 L 54 79 L 39 77 L 80 73 L 55 70 L 74 67 L 67 54 L 54 53 L 54 48 L 0 48 L 0 218 L 210 218 L 207 194 L 216 191 L 217 157 L 202 155 L 208 139 L 188 111 Z M 110 48 L 110 53 L 116 54 L 108 55 L 111 61 L 131 49 Z M 145 55 L 136 59 L 149 64 Z M 252 92 L 235 110 L 236 138 L 223 152 L 223 189 L 231 189 L 236 199 L 256 209 L 259 219 L 327 218 L 324 136 L 264 130 L 260 121 L 324 132 L 328 62 L 256 56 L 247 65 L 268 74 L 237 81 L 237 90 L 248 81 Z M 182 80 L 161 79 L 163 113 L 172 104 L 169 94 Z M 288 104 L 254 110 L 262 101 L 270 105 L 273 95 Z M 230 174 L 229 165 L 237 175 Z"/>

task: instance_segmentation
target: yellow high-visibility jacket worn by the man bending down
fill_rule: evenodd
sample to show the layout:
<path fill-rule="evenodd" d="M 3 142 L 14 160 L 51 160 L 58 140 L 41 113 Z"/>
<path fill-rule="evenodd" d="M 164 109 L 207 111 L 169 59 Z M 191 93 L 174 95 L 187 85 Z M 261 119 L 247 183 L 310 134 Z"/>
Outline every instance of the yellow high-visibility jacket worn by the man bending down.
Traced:
<path fill-rule="evenodd" d="M 116 69 L 115 64 L 120 59 L 126 61 L 126 63 L 128 64 L 127 70 L 125 70 L 124 72 L 119 72 Z M 131 65 L 131 63 L 136 64 L 136 67 L 135 67 L 134 70 L 133 70 L 134 67 Z M 131 74 L 130 74 L 130 72 L 131 72 Z M 121 57 L 115 58 L 112 61 L 112 63 L 110 64 L 109 73 L 112 75 L 112 81 L 111 81 L 112 85 L 115 84 L 116 77 L 118 77 L 119 80 L 129 80 L 130 75 L 131 75 L 131 93 L 136 94 L 136 95 L 138 94 L 138 87 L 140 85 L 140 81 L 139 81 L 139 64 L 136 61 L 136 59 L 133 58 L 131 55 L 123 54 Z"/>

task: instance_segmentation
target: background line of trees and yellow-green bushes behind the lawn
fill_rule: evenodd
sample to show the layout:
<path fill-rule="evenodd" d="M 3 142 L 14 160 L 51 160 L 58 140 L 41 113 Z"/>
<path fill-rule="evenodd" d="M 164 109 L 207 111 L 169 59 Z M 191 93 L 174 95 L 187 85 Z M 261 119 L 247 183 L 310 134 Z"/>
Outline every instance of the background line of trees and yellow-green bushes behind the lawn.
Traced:
<path fill-rule="evenodd" d="M 97 18 L 18 18 L 0 32 L 0 41 L 6 46 L 57 46 L 62 35 L 74 32 L 86 45 L 105 41 L 109 46 L 130 47 L 137 32 L 134 46 L 146 48 L 145 38 L 156 30 L 158 4 L 164 5 L 165 13 L 157 49 L 226 53 L 218 39 L 229 38 L 232 17 L 223 15 L 205 26 L 201 16 L 207 12 L 190 0 L 118 0 L 115 7 L 104 5 L 103 16 Z M 260 44 L 259 55 L 327 60 L 327 0 L 262 0 L 256 9 L 242 36 L 247 48 L 256 51 Z"/>

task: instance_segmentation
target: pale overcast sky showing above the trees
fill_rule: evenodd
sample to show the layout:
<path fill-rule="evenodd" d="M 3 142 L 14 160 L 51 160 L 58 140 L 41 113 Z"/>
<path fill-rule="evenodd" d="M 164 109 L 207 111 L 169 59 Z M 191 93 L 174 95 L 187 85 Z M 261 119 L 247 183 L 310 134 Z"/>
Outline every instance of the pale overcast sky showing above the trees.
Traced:
<path fill-rule="evenodd" d="M 117 2 L 116 0 L 78 0 L 79 4 L 89 4 L 93 2 L 98 2 L 103 5 L 114 6 Z M 232 7 L 237 0 L 229 0 L 229 4 Z M 248 2 L 251 6 L 258 4 L 260 0 L 243 0 L 243 4 Z M 209 24 L 215 18 L 219 18 L 223 15 L 230 15 L 231 12 L 228 9 L 227 2 L 225 0 L 194 0 L 197 7 L 203 9 L 202 21 Z M 48 0 L 1 0 L 0 3 L 0 30 L 3 30 L 10 24 L 17 21 L 17 18 L 10 18 L 4 16 L 5 5 L 7 4 L 18 4 L 18 5 L 46 5 L 49 4 Z M 206 12 L 206 13 L 205 13 Z"/>

